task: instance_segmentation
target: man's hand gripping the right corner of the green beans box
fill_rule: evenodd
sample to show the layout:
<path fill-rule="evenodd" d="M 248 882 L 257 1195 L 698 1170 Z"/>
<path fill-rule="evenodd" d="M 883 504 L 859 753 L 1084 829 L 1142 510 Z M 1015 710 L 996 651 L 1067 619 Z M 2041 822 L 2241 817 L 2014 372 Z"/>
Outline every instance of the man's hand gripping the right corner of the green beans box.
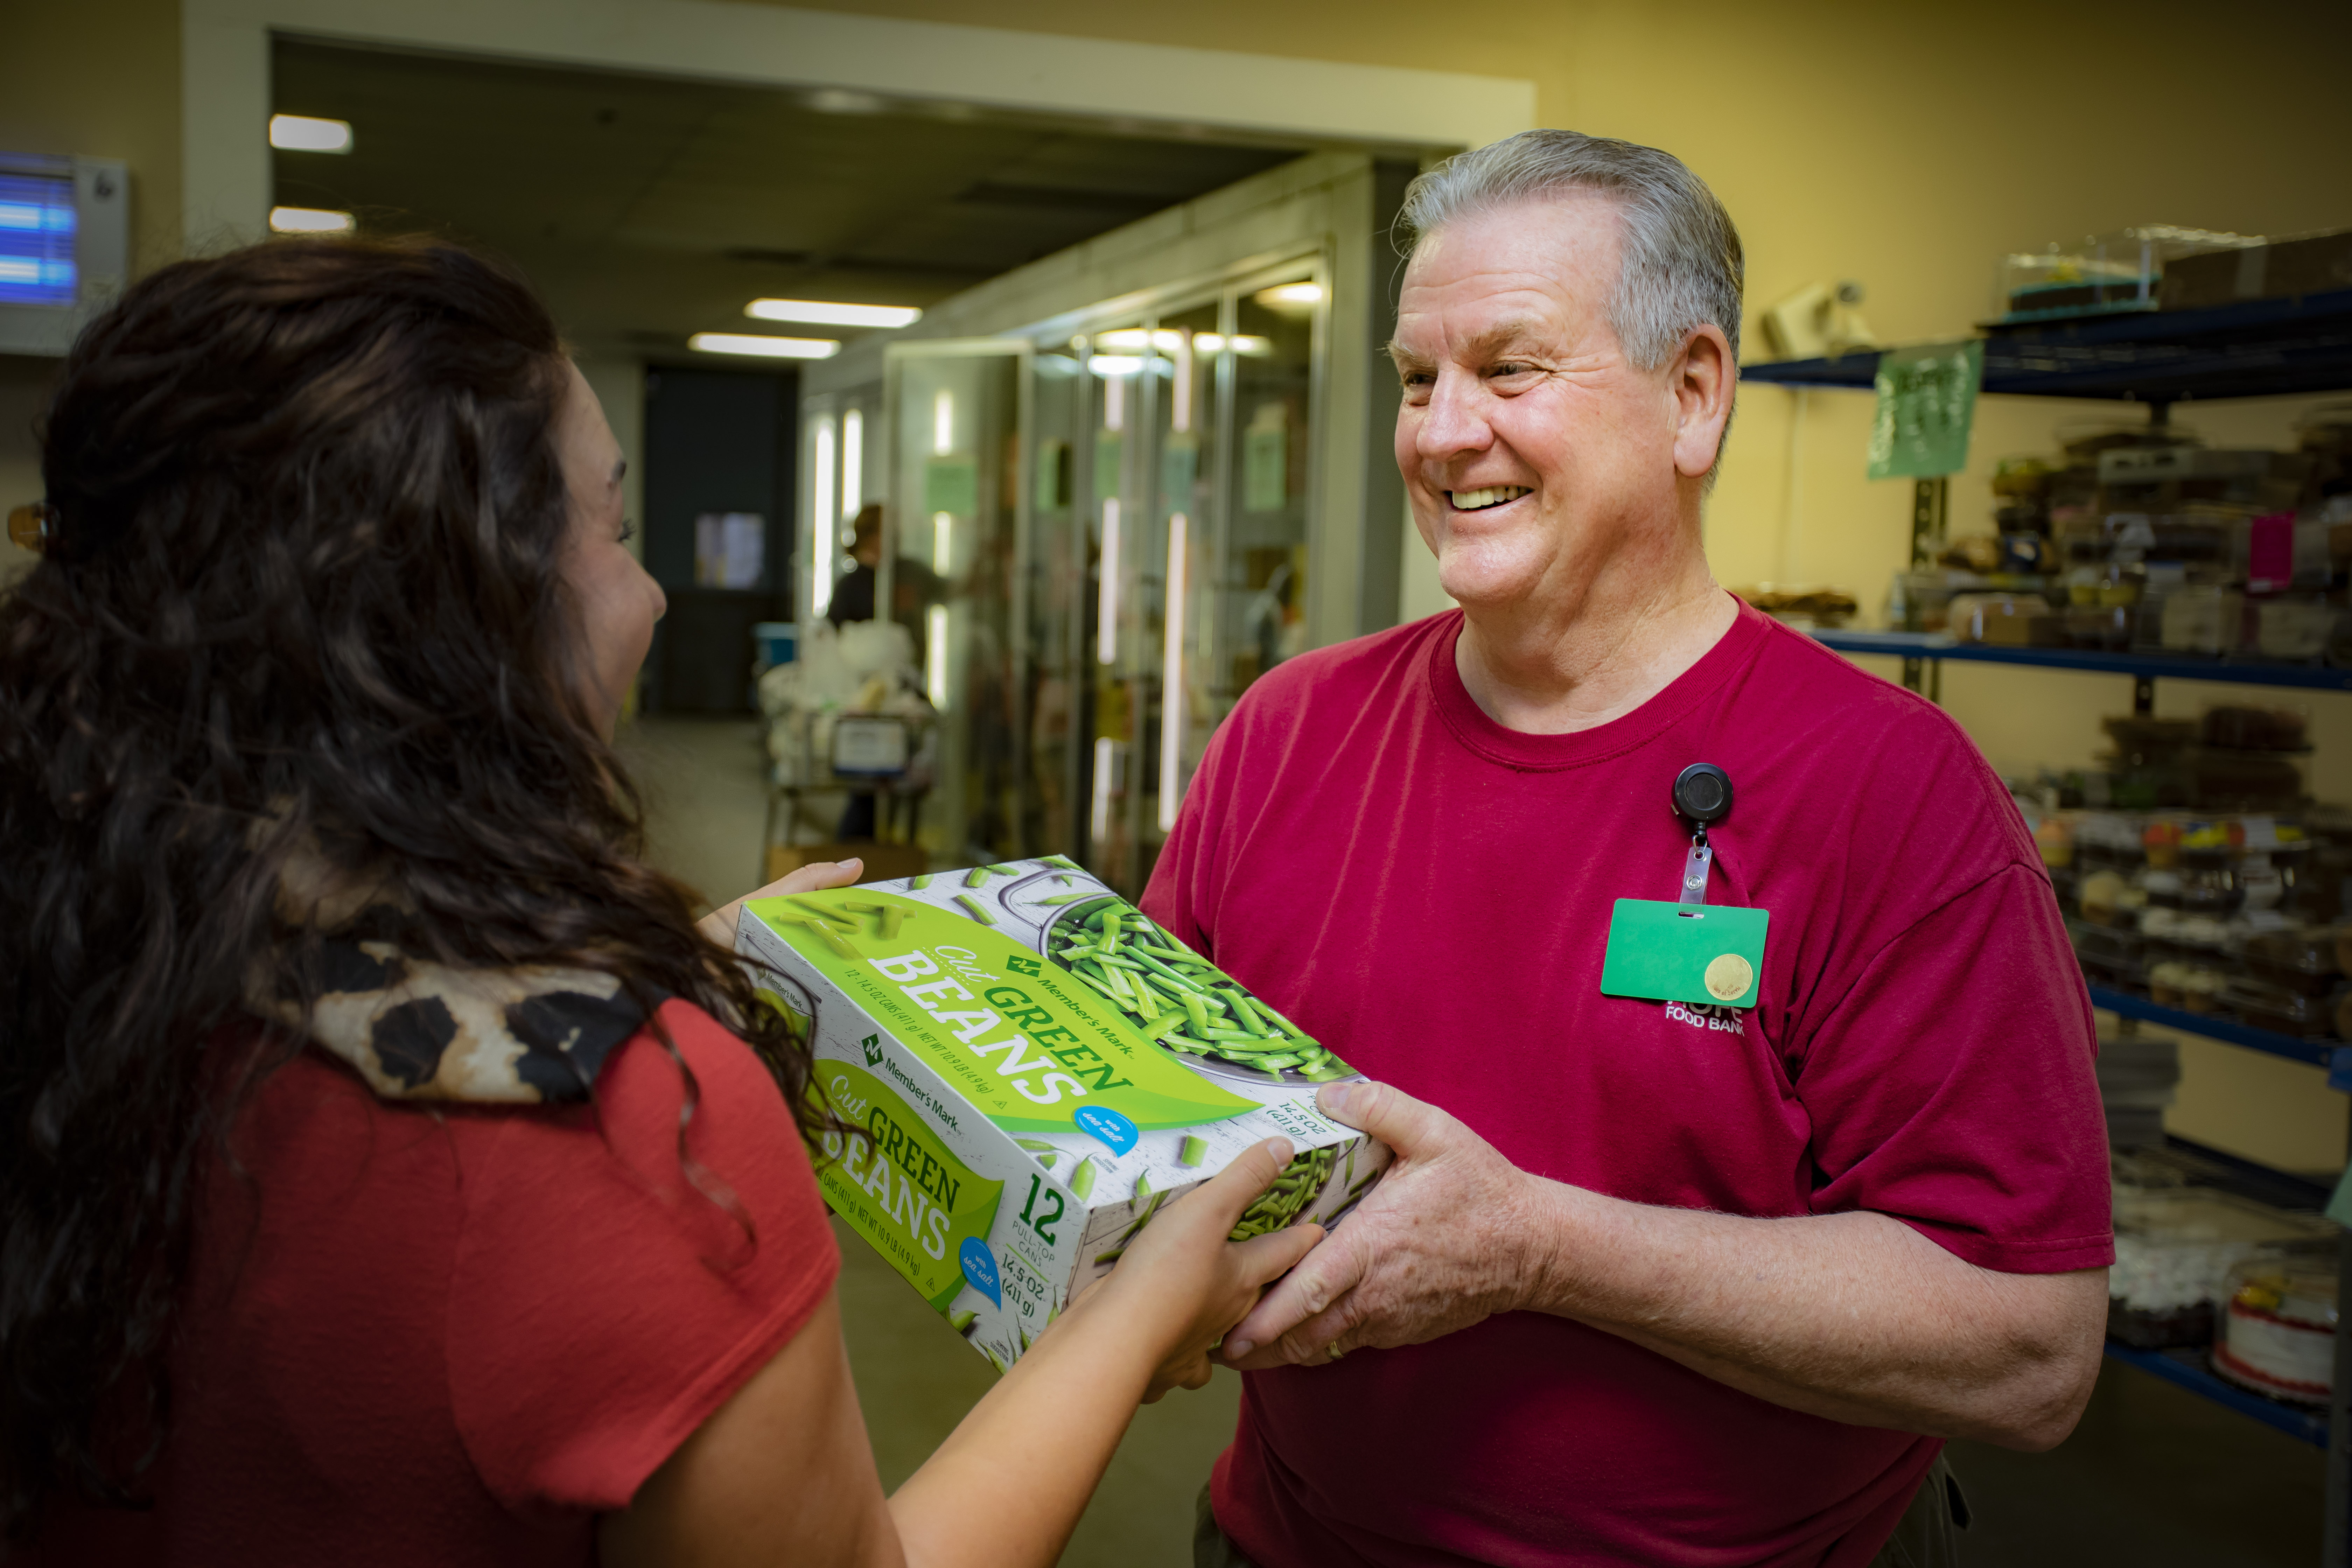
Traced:
<path fill-rule="evenodd" d="M 1468 1126 L 1388 1084 L 1317 1105 L 1397 1152 L 1381 1185 L 1225 1335 L 1225 1366 L 1336 1361 L 1421 1345 L 1524 1305 L 1531 1178 Z"/>

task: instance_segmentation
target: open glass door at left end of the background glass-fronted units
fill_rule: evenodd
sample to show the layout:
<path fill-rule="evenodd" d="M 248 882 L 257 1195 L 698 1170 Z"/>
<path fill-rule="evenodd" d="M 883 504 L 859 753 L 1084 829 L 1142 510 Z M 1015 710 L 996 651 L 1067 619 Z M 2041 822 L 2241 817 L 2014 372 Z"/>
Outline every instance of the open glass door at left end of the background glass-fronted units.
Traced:
<path fill-rule="evenodd" d="M 1030 853 L 1018 602 L 1028 360 L 1030 346 L 1011 339 L 884 353 L 891 458 L 875 588 L 938 712 L 920 837 L 953 865 Z"/>

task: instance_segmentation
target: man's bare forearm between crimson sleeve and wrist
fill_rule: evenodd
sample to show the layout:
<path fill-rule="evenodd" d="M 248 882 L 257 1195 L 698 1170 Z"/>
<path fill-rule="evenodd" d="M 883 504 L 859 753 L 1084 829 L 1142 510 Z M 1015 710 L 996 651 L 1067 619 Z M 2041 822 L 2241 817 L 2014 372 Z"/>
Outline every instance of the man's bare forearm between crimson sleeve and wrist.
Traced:
<path fill-rule="evenodd" d="M 1531 1309 L 1795 1410 L 2042 1448 L 2098 1373 L 2103 1269 L 1994 1274 L 1877 1213 L 1752 1220 L 1529 1185 Z"/>

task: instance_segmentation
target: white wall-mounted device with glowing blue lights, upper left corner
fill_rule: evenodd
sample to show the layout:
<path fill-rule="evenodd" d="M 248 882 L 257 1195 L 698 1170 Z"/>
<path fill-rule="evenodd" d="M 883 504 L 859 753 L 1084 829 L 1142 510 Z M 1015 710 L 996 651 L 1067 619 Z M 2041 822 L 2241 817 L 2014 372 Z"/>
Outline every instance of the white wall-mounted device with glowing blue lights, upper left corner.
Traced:
<path fill-rule="evenodd" d="M 115 158 L 0 153 L 0 353 L 61 355 L 122 292 L 129 172 Z"/>

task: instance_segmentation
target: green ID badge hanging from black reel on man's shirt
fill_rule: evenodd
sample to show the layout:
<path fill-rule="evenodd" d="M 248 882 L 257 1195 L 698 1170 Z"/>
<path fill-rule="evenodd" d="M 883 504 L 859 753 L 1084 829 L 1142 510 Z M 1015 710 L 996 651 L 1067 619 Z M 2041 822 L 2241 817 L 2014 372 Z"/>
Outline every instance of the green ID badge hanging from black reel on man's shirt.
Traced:
<path fill-rule="evenodd" d="M 1764 910 L 1708 903 L 1715 846 L 1708 827 L 1731 816 L 1731 773 L 1693 762 L 1675 776 L 1675 816 L 1691 830 L 1675 903 L 1618 898 L 1602 959 L 1604 997 L 1691 1001 L 1698 1006 L 1757 1004 L 1764 976 Z"/>

